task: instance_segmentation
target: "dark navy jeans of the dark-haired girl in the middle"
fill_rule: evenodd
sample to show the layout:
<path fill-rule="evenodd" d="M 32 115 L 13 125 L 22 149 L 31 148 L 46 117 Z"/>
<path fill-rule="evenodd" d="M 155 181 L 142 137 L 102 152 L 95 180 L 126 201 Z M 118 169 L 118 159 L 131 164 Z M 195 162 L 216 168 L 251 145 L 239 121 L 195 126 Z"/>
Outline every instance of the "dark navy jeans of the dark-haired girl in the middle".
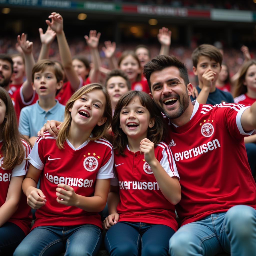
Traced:
<path fill-rule="evenodd" d="M 120 221 L 107 231 L 105 246 L 111 256 L 168 255 L 168 241 L 174 233 L 165 225 Z"/>

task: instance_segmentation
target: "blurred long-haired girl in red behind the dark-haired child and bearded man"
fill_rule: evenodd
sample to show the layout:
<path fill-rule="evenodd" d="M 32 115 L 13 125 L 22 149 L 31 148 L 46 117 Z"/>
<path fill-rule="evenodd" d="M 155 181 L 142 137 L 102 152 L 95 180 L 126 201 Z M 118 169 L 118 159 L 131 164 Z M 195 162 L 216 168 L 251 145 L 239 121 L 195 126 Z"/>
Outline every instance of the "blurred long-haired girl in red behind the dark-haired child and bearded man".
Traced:
<path fill-rule="evenodd" d="M 124 51 L 118 66 L 123 70 L 131 82 L 131 90 L 150 93 L 147 81 L 141 78 L 141 66 L 134 51 Z"/>

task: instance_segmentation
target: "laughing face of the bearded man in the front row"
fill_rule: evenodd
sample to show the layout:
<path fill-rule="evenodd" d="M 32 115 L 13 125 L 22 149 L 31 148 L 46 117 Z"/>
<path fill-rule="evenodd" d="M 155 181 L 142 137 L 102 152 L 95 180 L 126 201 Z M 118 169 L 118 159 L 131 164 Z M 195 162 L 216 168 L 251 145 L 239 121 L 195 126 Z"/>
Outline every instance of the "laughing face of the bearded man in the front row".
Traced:
<path fill-rule="evenodd" d="M 185 85 L 176 67 L 155 71 L 150 76 L 151 95 L 170 119 L 179 118 L 190 103 L 192 85 Z"/>

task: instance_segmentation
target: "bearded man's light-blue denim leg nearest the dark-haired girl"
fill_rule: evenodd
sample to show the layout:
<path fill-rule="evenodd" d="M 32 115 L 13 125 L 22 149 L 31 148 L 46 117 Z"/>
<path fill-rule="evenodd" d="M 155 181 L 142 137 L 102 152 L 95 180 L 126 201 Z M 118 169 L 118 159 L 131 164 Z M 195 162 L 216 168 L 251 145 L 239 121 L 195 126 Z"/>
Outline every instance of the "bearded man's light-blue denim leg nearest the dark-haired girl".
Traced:
<path fill-rule="evenodd" d="M 214 214 L 180 227 L 169 241 L 169 254 L 171 256 L 214 256 L 222 252 L 215 230 L 215 225 L 222 225 L 222 221 L 218 220 L 219 215 Z"/>

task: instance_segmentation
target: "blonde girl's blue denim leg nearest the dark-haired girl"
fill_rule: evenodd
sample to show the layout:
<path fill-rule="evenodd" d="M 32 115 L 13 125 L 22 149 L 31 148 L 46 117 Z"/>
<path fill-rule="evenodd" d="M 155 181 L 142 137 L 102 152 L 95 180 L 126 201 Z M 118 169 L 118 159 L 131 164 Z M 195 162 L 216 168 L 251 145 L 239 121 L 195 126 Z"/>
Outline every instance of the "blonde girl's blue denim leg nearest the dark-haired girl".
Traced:
<path fill-rule="evenodd" d="M 101 245 L 101 229 L 96 225 L 69 226 L 63 229 L 67 238 L 65 256 L 97 255 Z"/>

